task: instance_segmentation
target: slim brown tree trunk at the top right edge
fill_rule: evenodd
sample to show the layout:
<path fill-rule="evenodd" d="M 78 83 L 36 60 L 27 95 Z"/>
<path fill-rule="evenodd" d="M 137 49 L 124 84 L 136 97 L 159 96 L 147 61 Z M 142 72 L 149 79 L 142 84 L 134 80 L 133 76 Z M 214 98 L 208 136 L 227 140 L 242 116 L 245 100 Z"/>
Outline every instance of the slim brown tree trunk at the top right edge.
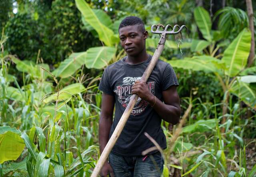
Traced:
<path fill-rule="evenodd" d="M 251 30 L 251 34 L 252 34 L 250 55 L 248 57 L 248 67 L 250 67 L 250 65 L 252 65 L 253 62 L 254 62 L 254 56 L 255 56 L 252 0 L 246 0 L 246 8 L 247 8 L 247 14 L 248 14 L 248 17 L 249 17 L 249 26 L 250 26 L 250 30 Z"/>

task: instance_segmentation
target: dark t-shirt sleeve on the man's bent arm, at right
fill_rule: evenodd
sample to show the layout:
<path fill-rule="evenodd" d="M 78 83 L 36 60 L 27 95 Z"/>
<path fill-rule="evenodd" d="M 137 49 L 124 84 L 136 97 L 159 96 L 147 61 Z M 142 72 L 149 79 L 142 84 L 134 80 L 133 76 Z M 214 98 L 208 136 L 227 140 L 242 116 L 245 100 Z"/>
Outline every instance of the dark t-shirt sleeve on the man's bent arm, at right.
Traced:
<path fill-rule="evenodd" d="M 168 64 L 164 70 L 163 80 L 162 80 L 162 90 L 168 89 L 170 86 L 178 86 L 177 76 L 170 64 Z"/>

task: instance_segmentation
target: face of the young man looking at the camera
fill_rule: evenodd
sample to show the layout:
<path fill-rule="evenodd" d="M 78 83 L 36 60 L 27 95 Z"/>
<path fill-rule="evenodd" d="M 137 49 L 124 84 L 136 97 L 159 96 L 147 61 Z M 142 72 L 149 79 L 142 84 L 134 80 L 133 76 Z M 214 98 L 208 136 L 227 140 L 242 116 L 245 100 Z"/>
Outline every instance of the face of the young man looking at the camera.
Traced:
<path fill-rule="evenodd" d="M 138 25 L 125 26 L 119 29 L 122 48 L 129 56 L 137 56 L 145 48 L 148 32 L 142 32 Z"/>

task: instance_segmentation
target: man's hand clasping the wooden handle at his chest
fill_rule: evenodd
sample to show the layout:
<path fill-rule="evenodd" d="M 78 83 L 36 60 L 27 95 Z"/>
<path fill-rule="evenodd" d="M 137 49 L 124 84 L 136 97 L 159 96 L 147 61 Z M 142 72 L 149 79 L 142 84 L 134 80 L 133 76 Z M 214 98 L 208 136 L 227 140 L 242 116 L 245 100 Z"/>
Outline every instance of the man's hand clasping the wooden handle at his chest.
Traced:
<path fill-rule="evenodd" d="M 135 81 L 132 86 L 132 94 L 136 93 L 141 99 L 148 101 L 150 97 L 154 96 L 148 89 L 148 85 L 145 81 Z"/>

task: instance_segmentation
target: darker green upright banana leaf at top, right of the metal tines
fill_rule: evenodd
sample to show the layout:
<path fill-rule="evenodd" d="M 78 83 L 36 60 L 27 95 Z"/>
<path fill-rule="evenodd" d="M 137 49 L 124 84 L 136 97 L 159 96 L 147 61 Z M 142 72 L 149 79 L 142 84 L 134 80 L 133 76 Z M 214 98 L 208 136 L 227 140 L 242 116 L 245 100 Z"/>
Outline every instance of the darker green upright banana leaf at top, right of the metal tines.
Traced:
<path fill-rule="evenodd" d="M 204 8 L 197 7 L 194 10 L 194 18 L 204 38 L 211 42 L 212 41 L 212 36 L 211 36 L 212 21 L 209 13 Z"/>

